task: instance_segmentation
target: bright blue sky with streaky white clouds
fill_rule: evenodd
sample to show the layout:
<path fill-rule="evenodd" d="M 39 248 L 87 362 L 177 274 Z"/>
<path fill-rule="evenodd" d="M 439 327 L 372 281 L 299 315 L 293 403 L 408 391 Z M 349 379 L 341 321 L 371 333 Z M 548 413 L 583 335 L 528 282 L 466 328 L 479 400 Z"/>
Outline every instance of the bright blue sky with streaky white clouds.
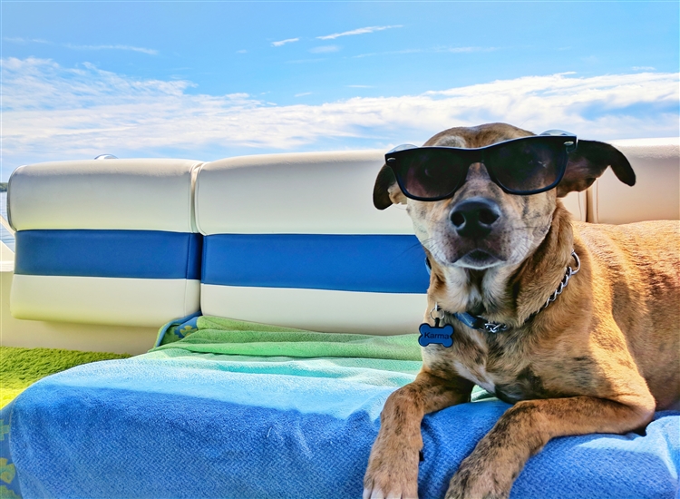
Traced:
<path fill-rule="evenodd" d="M 0 2 L 0 181 L 39 161 L 680 134 L 680 3 Z"/>

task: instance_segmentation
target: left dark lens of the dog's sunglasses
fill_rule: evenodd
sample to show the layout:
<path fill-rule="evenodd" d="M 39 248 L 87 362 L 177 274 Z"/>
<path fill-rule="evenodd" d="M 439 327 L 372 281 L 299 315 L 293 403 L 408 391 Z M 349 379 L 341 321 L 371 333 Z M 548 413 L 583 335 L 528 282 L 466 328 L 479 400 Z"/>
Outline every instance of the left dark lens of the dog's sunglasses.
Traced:
<path fill-rule="evenodd" d="M 436 149 L 413 149 L 395 156 L 393 171 L 404 194 L 421 199 L 451 195 L 467 166 L 461 158 Z"/>

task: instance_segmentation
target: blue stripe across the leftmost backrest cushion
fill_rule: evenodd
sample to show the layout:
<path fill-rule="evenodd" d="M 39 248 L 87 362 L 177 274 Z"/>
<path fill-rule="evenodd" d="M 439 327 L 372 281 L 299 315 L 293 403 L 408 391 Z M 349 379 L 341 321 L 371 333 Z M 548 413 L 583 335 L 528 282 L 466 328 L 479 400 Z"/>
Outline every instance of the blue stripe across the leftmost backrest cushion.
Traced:
<path fill-rule="evenodd" d="M 162 230 L 20 230 L 15 273 L 199 279 L 202 236 Z"/>

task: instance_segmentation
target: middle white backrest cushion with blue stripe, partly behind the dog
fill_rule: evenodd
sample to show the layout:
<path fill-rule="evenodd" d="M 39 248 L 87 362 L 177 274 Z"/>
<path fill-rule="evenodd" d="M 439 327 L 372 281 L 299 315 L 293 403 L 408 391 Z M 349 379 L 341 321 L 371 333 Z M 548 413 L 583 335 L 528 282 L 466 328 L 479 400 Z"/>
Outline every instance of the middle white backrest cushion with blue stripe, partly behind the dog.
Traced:
<path fill-rule="evenodd" d="M 430 279 L 405 208 L 374 207 L 383 163 L 384 151 L 205 163 L 196 183 L 203 314 L 315 331 L 417 330 Z M 578 220 L 583 201 L 568 197 Z"/>

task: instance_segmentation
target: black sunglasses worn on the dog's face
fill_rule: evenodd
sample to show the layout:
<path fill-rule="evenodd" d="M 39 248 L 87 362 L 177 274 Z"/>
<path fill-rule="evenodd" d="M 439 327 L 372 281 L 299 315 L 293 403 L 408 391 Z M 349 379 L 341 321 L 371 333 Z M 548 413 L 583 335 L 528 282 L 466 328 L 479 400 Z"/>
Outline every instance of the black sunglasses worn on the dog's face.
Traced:
<path fill-rule="evenodd" d="M 476 149 L 405 144 L 385 154 L 385 163 L 403 194 L 416 201 L 451 198 L 476 162 L 500 189 L 527 196 L 557 186 L 576 147 L 576 135 L 555 130 Z"/>

